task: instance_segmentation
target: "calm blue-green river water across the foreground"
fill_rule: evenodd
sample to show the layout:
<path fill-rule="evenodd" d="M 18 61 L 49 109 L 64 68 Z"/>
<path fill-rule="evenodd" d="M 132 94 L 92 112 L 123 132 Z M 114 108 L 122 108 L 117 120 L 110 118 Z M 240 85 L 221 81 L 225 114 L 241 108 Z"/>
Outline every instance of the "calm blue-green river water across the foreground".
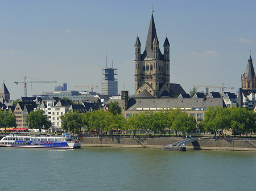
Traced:
<path fill-rule="evenodd" d="M 256 152 L 0 148 L 0 190 L 256 190 Z"/>

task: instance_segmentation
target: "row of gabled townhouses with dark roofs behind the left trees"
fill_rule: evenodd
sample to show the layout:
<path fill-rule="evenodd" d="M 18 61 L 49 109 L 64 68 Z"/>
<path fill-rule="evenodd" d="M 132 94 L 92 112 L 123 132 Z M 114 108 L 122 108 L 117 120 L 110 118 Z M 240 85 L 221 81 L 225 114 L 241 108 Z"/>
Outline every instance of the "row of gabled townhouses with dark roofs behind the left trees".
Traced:
<path fill-rule="evenodd" d="M 3 104 L 0 102 L 0 106 Z M 72 104 L 70 100 L 62 100 L 59 97 L 53 97 L 51 100 L 42 100 L 40 97 L 22 97 L 16 105 L 5 107 L 14 113 L 16 117 L 16 128 L 28 128 L 26 117 L 31 111 L 42 109 L 47 115 L 48 120 L 52 122 L 51 129 L 61 130 L 60 116 L 68 111 L 85 113 L 93 112 L 103 108 L 101 102 L 97 99 L 87 99 L 81 104 Z"/>

